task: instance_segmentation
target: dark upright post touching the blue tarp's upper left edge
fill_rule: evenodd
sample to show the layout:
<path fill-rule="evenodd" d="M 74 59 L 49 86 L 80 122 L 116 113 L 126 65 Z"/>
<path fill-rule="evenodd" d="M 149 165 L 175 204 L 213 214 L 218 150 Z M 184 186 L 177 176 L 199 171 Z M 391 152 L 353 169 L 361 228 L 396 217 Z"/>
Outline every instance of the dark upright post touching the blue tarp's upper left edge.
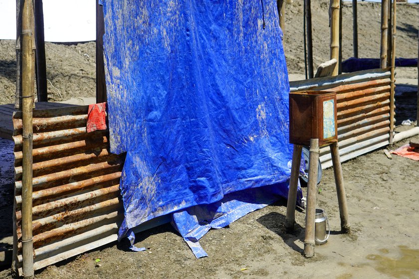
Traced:
<path fill-rule="evenodd" d="M 106 102 L 105 63 L 103 60 L 103 35 L 105 20 L 103 6 L 96 0 L 96 103 Z"/>

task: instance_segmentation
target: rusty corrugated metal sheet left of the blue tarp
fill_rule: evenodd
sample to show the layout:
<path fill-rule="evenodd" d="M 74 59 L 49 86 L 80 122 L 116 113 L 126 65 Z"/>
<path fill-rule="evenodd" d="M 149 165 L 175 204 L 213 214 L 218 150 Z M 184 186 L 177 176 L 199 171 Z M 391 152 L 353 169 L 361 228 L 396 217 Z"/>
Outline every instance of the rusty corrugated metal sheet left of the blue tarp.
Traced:
<path fill-rule="evenodd" d="M 34 269 L 117 239 L 123 218 L 119 180 L 124 155 L 109 152 L 108 131 L 86 132 L 88 106 L 33 111 Z M 21 272 L 22 121 L 15 142 L 14 247 Z"/>

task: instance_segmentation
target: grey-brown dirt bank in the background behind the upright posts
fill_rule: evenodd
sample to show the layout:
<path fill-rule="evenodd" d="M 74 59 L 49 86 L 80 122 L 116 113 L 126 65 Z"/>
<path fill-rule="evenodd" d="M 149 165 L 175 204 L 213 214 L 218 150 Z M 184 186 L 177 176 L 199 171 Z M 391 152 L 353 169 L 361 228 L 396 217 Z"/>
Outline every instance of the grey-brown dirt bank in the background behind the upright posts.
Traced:
<path fill-rule="evenodd" d="M 303 1 L 288 4 L 285 14 L 285 55 L 291 74 L 304 73 Z M 417 4 L 398 5 L 397 57 L 418 55 L 419 11 Z M 312 1 L 314 68 L 329 59 L 328 0 Z M 358 4 L 359 55 L 380 57 L 380 3 Z M 343 5 L 343 59 L 352 56 L 352 4 Z M 95 42 L 73 45 L 46 43 L 47 86 L 50 101 L 95 96 Z M 13 103 L 15 92 L 14 41 L 0 40 L 0 105 Z M 404 78 L 418 78 L 410 68 Z"/>

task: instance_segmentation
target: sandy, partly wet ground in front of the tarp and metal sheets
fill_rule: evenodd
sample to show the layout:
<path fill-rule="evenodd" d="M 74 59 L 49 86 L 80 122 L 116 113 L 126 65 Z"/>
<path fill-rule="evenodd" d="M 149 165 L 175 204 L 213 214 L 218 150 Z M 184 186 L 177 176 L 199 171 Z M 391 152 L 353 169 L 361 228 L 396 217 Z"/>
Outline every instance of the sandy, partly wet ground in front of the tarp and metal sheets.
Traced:
<path fill-rule="evenodd" d="M 416 137 L 419 139 L 419 136 Z M 408 142 L 397 143 L 395 147 Z M 201 240 L 209 257 L 195 259 L 167 224 L 137 235 L 145 252 L 129 252 L 127 242 L 49 266 L 36 278 L 419 278 L 419 162 L 383 150 L 343 163 L 352 234 L 340 234 L 333 170 L 323 172 L 317 204 L 329 219 L 331 235 L 316 255 L 302 255 L 304 211 L 296 211 L 296 231 L 284 228 L 284 200 L 250 213 Z M 306 188 L 303 188 L 305 191 Z M 101 267 L 95 267 L 100 259 Z M 245 270 L 243 270 L 245 269 Z M 10 271 L 0 272 L 8 278 Z"/>

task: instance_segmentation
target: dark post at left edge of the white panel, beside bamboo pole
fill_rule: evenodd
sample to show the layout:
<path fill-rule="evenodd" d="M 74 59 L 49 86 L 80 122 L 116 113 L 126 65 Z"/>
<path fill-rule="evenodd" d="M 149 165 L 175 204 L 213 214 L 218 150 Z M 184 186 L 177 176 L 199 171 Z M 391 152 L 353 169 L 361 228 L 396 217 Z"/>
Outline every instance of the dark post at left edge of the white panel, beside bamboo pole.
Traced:
<path fill-rule="evenodd" d="M 36 88 L 38 102 L 48 102 L 46 86 L 45 37 L 42 0 L 34 1 L 35 45 L 36 45 Z"/>

